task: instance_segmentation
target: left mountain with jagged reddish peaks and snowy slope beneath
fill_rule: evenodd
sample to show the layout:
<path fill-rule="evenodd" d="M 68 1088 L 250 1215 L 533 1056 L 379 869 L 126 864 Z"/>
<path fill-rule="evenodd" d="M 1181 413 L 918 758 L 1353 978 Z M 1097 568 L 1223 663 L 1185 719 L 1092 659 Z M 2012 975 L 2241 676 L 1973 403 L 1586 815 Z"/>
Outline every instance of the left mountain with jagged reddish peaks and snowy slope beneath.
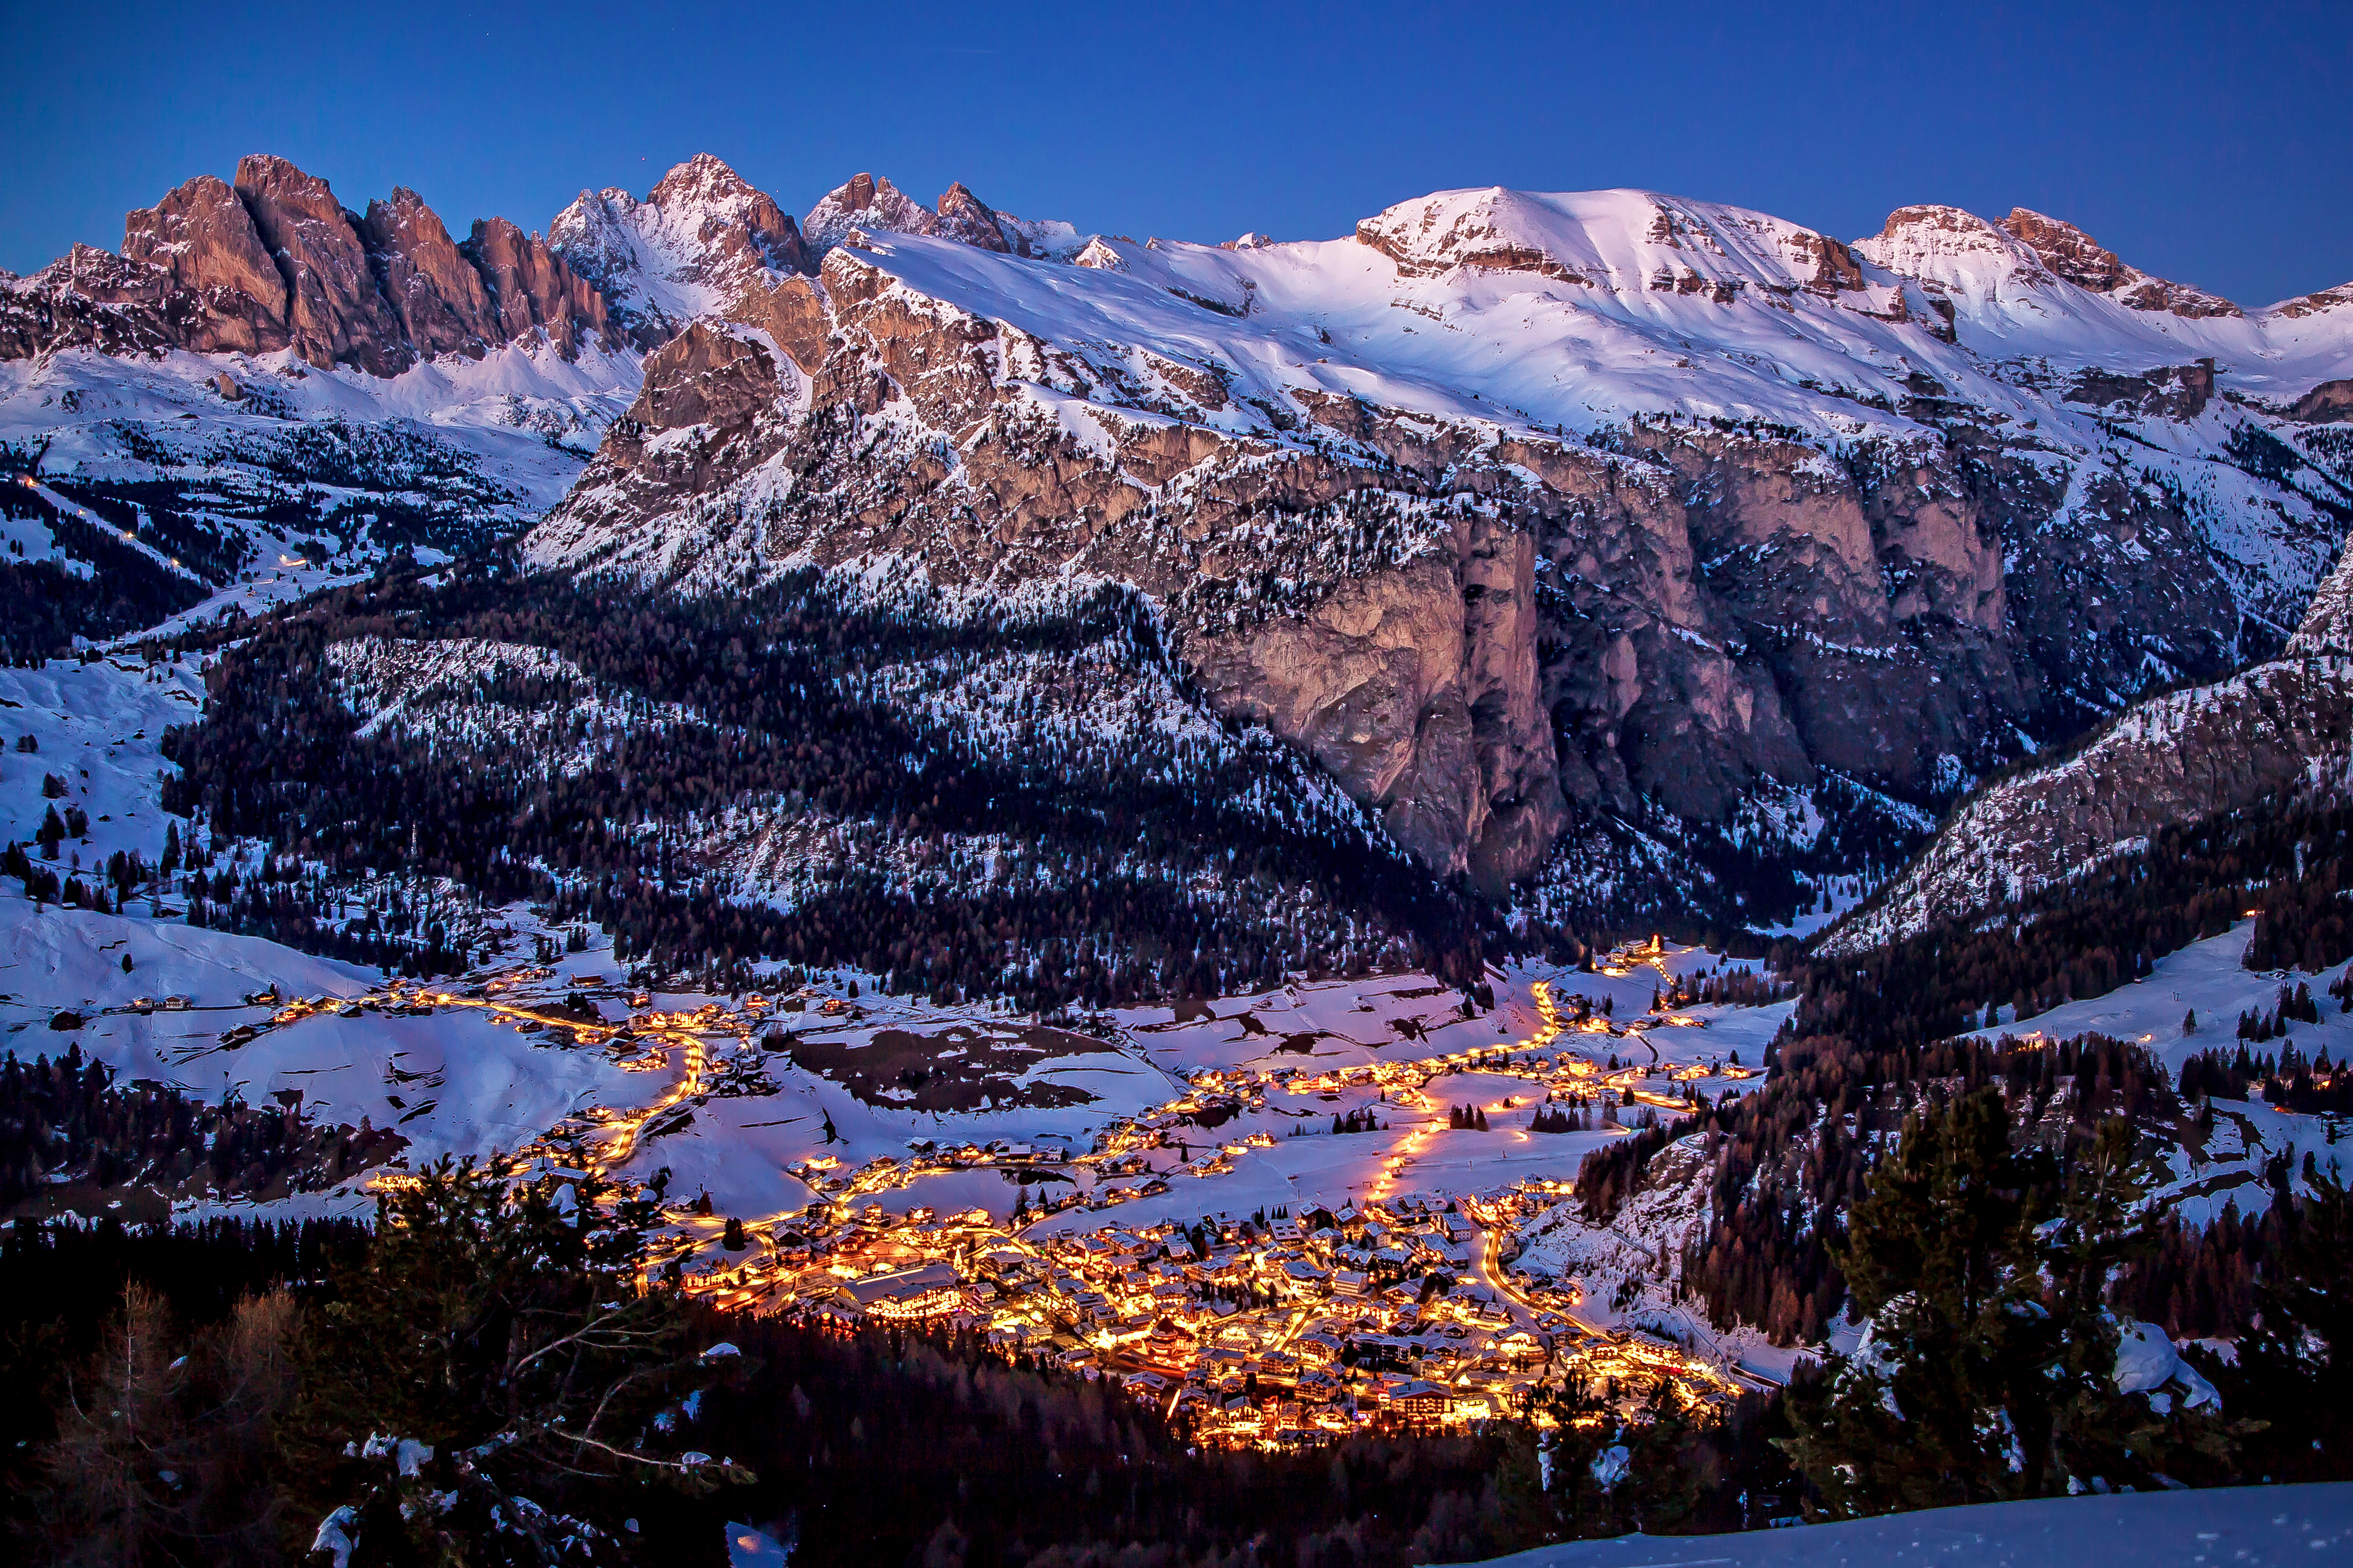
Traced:
<path fill-rule="evenodd" d="M 553 505 L 638 386 L 539 235 L 280 158 L 0 277 L 0 646 L 254 614 Z"/>

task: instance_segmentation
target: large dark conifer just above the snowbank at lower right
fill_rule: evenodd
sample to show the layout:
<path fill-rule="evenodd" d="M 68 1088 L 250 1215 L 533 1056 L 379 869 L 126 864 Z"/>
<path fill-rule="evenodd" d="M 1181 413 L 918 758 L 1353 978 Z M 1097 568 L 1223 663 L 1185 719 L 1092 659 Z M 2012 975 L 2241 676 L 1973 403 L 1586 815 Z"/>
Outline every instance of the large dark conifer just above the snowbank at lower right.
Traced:
<path fill-rule="evenodd" d="M 1991 1086 L 1906 1119 L 1835 1248 L 1866 1342 L 1788 1401 L 1833 1516 L 2233 1476 L 2245 1425 L 2115 1389 L 2106 1295 L 2148 1246 L 2148 1185 L 2125 1119 L 2064 1171 L 2012 1150 Z"/>

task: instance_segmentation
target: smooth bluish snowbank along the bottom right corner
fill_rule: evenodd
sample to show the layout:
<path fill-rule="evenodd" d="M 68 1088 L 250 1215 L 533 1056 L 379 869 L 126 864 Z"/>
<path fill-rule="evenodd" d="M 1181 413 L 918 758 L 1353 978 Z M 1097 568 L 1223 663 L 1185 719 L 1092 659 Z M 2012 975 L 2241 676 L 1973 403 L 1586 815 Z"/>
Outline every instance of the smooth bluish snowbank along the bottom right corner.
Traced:
<path fill-rule="evenodd" d="M 1621 1535 L 1492 1568 L 2318 1568 L 2353 1556 L 2353 1483 L 1984 1502 L 1746 1535 Z"/>

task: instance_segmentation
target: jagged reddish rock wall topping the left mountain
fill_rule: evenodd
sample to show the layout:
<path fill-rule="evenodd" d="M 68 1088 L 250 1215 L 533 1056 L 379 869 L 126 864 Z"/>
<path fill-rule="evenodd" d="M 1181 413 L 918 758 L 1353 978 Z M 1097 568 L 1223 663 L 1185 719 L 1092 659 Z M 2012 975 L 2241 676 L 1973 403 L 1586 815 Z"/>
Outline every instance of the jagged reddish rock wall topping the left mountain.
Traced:
<path fill-rule="evenodd" d="M 506 219 L 456 244 L 398 188 L 367 214 L 282 158 L 245 158 L 122 221 L 122 254 L 75 247 L 0 294 L 0 357 L 292 348 L 318 367 L 395 376 L 419 360 L 480 360 L 546 331 L 576 355 L 609 334 L 605 301 Z"/>

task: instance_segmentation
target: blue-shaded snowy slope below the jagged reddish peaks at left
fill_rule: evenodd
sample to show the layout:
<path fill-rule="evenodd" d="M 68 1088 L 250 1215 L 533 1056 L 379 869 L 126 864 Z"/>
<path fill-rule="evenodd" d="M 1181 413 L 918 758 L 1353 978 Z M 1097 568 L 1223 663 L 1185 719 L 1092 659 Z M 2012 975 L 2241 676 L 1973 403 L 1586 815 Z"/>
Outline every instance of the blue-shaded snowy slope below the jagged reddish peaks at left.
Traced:
<path fill-rule="evenodd" d="M 527 524 L 562 498 L 635 388 L 633 353 L 567 360 L 546 341 L 398 376 L 320 369 L 292 350 L 5 360 L 7 473 L 33 465 L 56 512 L 104 524 L 120 548 L 85 559 L 89 545 L 47 517 L 7 517 L 0 567 L 144 581 L 155 621 L 176 611 L 174 630 L 259 614 L 398 550 L 431 562 Z M 71 630 L 139 625 L 118 614 Z"/>

